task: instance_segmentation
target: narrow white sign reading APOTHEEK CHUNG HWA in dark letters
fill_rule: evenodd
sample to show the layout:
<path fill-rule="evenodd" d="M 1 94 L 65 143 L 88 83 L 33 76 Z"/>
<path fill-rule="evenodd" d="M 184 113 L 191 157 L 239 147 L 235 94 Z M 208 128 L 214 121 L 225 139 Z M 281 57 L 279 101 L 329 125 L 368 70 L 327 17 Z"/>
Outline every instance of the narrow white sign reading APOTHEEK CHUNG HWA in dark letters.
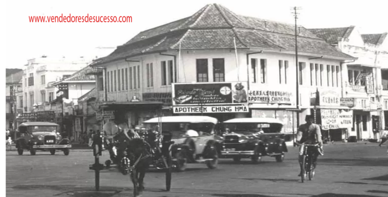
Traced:
<path fill-rule="evenodd" d="M 248 105 L 174 106 L 174 113 L 248 113 Z"/>

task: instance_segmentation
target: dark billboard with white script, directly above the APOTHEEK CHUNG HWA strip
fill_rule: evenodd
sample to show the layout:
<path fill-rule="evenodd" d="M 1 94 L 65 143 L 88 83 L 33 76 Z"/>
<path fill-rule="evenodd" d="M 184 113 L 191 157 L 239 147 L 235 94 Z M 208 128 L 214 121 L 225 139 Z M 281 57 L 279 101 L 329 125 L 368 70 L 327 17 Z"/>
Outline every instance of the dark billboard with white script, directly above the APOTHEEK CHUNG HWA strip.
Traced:
<path fill-rule="evenodd" d="M 172 84 L 173 106 L 248 104 L 247 82 Z"/>

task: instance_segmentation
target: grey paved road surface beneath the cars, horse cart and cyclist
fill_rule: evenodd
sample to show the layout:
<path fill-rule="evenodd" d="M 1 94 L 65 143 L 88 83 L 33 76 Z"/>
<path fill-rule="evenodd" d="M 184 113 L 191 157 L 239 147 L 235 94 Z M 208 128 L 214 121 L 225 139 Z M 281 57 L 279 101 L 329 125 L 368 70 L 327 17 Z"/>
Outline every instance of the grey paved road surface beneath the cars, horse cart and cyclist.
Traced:
<path fill-rule="evenodd" d="M 6 152 L 6 196 L 132 196 L 129 176 L 115 170 L 101 173 L 102 192 L 94 192 L 91 152 L 74 150 L 69 156 L 18 156 Z M 388 158 L 386 148 L 376 144 L 334 144 L 325 146 L 313 181 L 300 182 L 297 148 L 289 148 L 283 163 L 263 158 L 263 163 L 243 160 L 235 164 L 221 160 L 218 169 L 204 164 L 190 165 L 174 173 L 172 190 L 164 192 L 164 174 L 148 173 L 143 196 L 212 197 L 368 197 L 388 195 Z M 337 195 L 334 195 L 337 194 Z M 343 195 L 340 195 L 343 194 Z"/>

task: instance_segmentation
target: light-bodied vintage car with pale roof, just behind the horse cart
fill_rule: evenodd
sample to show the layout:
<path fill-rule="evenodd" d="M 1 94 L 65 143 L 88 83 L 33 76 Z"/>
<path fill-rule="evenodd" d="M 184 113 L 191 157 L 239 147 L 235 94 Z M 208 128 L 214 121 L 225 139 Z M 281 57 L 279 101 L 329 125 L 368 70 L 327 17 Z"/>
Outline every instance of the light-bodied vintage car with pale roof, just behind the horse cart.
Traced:
<path fill-rule="evenodd" d="M 218 120 L 209 116 L 164 116 L 143 122 L 148 129 L 162 130 L 162 135 L 171 136 L 170 147 L 173 167 L 184 171 L 187 163 L 206 163 L 214 169 L 218 165 L 219 143 L 214 127 Z M 161 128 L 160 128 L 161 127 Z M 198 136 L 186 135 L 194 130 Z"/>

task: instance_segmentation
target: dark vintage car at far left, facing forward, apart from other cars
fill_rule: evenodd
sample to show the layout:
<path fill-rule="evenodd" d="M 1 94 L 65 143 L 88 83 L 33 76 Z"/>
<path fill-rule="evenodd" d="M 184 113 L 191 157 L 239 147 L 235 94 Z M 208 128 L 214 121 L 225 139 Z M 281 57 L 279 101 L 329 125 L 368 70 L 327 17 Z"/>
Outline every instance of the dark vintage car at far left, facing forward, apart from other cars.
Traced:
<path fill-rule="evenodd" d="M 57 150 L 65 155 L 70 152 L 70 140 L 62 138 L 58 130 L 58 124 L 52 122 L 25 122 L 19 125 L 20 138 L 15 141 L 19 155 L 24 150 L 36 155 L 36 151 L 50 151 L 55 155 Z"/>

